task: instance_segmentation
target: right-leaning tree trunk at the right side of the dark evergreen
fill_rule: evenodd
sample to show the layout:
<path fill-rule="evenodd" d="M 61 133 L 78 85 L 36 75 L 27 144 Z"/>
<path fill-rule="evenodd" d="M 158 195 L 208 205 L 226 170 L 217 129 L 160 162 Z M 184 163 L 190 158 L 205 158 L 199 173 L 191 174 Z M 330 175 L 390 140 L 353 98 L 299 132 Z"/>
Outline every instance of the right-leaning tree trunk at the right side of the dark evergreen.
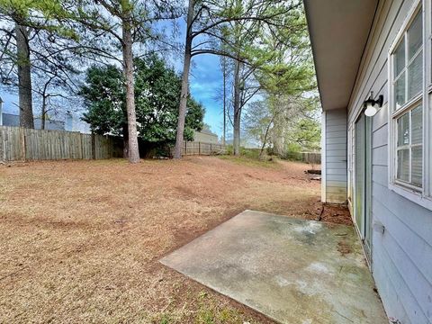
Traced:
<path fill-rule="evenodd" d="M 192 23 L 193 23 L 193 8 L 195 6 L 194 0 L 189 0 L 189 7 L 187 10 L 187 30 L 186 30 L 186 43 L 184 47 L 184 66 L 182 77 L 182 93 L 180 94 L 180 105 L 178 107 L 178 121 L 177 121 L 177 134 L 175 137 L 174 158 L 182 157 L 183 140 L 184 140 L 184 121 L 186 119 L 186 104 L 189 92 L 189 70 L 191 68 L 192 59 Z"/>

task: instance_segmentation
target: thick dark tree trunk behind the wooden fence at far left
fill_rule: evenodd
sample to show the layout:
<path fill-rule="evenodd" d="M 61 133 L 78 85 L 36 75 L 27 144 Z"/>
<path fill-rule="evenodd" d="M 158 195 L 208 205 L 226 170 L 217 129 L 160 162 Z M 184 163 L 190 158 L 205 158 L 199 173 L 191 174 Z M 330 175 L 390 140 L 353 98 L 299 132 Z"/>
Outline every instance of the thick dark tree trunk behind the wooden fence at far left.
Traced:
<path fill-rule="evenodd" d="M 18 96 L 20 106 L 20 126 L 34 129 L 31 100 L 31 65 L 29 30 L 15 23 L 16 56 L 18 66 Z"/>

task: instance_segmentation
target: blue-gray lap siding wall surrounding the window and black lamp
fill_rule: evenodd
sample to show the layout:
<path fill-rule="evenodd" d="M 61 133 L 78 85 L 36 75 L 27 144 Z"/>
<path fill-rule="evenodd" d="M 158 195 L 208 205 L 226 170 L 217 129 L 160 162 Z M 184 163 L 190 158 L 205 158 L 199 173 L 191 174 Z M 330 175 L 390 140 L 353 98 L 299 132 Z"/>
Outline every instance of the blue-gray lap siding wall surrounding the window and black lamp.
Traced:
<path fill-rule="evenodd" d="M 389 317 L 401 323 L 432 322 L 432 211 L 388 188 L 388 52 L 413 4 L 412 0 L 380 1 L 348 107 L 351 125 L 370 91 L 384 95 L 373 121 L 372 269 Z M 352 154 L 352 152 L 349 152 Z"/>

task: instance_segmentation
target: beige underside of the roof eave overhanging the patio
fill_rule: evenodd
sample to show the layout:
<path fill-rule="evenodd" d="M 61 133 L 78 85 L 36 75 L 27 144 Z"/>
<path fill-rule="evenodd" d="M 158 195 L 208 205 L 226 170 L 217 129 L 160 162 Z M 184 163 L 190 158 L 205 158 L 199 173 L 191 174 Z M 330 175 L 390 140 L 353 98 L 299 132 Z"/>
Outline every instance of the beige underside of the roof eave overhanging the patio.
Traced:
<path fill-rule="evenodd" d="M 347 109 L 378 0 L 304 0 L 323 110 Z"/>

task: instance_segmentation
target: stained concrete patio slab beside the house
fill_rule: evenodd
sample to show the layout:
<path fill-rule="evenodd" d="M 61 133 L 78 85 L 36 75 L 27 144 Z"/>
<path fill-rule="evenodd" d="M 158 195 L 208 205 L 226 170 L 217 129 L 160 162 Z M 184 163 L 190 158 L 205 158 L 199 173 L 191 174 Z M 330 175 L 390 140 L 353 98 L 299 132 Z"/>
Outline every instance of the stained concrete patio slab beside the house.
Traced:
<path fill-rule="evenodd" d="M 161 262 L 281 323 L 388 323 L 352 227 L 243 211 Z"/>

